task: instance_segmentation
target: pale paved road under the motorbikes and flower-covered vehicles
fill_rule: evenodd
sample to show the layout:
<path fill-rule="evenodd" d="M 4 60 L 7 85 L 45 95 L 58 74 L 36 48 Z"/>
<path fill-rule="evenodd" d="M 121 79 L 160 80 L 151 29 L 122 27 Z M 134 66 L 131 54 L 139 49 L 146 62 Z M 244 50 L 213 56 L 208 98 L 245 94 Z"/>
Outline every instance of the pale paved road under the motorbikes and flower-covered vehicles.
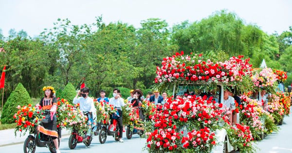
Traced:
<path fill-rule="evenodd" d="M 285 117 L 283 125 L 279 127 L 281 129 L 277 134 L 273 133 L 256 143 L 256 146 L 260 149 L 256 153 L 292 153 L 292 116 Z M 147 153 L 147 151 L 143 151 L 146 139 L 133 135 L 132 139 L 128 140 L 125 133 L 123 136 L 124 143 L 116 142 L 112 136 L 108 136 L 105 144 L 100 144 L 98 136 L 94 136 L 90 147 L 85 147 L 83 143 L 78 143 L 74 150 L 70 150 L 68 147 L 69 135 L 66 135 L 61 140 L 60 150 L 61 153 Z M 1 136 L 1 138 L 3 137 Z M 2 145 L 0 153 L 23 153 L 23 143 Z M 49 150 L 37 147 L 36 153 L 49 153 Z"/>

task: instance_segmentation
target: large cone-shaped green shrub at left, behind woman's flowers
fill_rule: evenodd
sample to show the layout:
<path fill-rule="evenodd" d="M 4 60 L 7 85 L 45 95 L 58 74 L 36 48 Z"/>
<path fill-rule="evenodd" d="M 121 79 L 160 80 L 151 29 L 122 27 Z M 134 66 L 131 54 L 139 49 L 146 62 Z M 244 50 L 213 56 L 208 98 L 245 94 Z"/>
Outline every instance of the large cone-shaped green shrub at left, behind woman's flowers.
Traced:
<path fill-rule="evenodd" d="M 9 95 L 7 101 L 3 106 L 3 111 L 1 115 L 2 124 L 14 123 L 14 114 L 18 111 L 17 106 L 28 105 L 32 103 L 28 92 L 21 83 L 18 83 L 15 90 Z"/>

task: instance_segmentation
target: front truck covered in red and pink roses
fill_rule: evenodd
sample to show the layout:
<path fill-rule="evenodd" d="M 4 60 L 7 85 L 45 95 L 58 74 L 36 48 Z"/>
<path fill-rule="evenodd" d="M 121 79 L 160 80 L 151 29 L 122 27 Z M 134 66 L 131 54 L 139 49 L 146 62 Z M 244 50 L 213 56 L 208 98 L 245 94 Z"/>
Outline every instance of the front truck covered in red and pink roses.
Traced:
<path fill-rule="evenodd" d="M 149 152 L 254 151 L 249 127 L 232 126 L 228 118 L 231 110 L 223 109 L 221 103 L 227 85 L 244 86 L 245 77 L 251 75 L 252 66 L 242 57 L 220 62 L 216 56 L 205 59 L 202 54 L 181 52 L 163 59 L 162 67 L 157 67 L 155 88 L 173 88 L 173 97 L 149 116 Z"/>

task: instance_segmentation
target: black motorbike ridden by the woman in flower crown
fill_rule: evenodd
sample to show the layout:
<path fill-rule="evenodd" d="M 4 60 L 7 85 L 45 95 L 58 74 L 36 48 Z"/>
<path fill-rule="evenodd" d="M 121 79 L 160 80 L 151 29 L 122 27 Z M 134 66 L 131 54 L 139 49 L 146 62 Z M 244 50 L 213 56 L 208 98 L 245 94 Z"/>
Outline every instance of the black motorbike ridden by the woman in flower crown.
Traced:
<path fill-rule="evenodd" d="M 60 132 L 61 128 L 58 130 L 58 146 L 60 146 Z M 53 142 L 52 136 L 48 136 L 37 131 L 37 126 L 34 130 L 30 132 L 31 135 L 27 136 L 23 144 L 24 153 L 35 153 L 37 147 L 47 147 L 51 153 L 56 153 L 55 144 Z"/>

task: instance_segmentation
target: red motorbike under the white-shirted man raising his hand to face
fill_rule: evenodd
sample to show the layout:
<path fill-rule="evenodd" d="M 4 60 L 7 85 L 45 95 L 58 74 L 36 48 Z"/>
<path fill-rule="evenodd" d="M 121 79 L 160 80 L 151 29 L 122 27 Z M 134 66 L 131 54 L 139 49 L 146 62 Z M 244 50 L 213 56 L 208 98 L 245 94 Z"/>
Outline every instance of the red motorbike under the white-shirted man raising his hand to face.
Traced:
<path fill-rule="evenodd" d="M 88 112 L 88 111 L 85 111 L 84 112 L 84 115 L 88 116 L 88 117 L 91 117 L 92 119 L 92 113 L 91 112 Z M 90 119 L 90 118 L 89 118 Z M 71 133 L 71 136 L 69 137 L 69 148 L 70 149 L 74 149 L 77 145 L 77 143 L 81 143 L 83 142 L 85 144 L 86 147 L 90 146 L 91 145 L 91 141 L 92 141 L 92 137 L 93 137 L 93 129 L 95 127 L 92 127 L 91 128 L 91 136 L 88 136 L 87 139 L 85 140 L 83 136 L 86 136 L 86 132 L 84 132 L 83 134 L 79 134 L 77 132 L 77 130 L 73 130 L 72 133 Z"/>

